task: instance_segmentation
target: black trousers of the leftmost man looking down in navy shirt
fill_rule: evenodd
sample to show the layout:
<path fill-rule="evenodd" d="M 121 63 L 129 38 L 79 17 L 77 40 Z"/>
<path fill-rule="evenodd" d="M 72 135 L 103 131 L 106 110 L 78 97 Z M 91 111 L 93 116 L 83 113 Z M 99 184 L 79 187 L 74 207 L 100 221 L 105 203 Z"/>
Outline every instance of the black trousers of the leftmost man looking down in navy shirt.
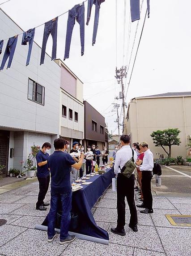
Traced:
<path fill-rule="evenodd" d="M 38 182 L 39 182 L 39 193 L 38 193 L 38 201 L 36 203 L 36 207 L 39 207 L 43 204 L 43 201 L 47 194 L 49 183 L 50 183 L 50 175 L 45 178 L 38 177 Z"/>

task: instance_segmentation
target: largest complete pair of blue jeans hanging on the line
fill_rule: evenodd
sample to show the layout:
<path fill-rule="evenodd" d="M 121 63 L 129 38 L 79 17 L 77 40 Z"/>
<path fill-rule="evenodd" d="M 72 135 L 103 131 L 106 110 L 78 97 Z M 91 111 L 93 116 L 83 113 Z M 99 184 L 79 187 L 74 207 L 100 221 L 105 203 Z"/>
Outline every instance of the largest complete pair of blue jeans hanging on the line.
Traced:
<path fill-rule="evenodd" d="M 81 56 L 84 55 L 84 40 L 85 40 L 85 7 L 83 4 L 76 4 L 68 12 L 68 24 L 66 32 L 66 45 L 65 45 L 65 54 L 64 60 L 69 58 L 70 45 L 72 39 L 72 31 L 75 25 L 75 19 L 80 25 L 80 38 L 81 38 Z"/>

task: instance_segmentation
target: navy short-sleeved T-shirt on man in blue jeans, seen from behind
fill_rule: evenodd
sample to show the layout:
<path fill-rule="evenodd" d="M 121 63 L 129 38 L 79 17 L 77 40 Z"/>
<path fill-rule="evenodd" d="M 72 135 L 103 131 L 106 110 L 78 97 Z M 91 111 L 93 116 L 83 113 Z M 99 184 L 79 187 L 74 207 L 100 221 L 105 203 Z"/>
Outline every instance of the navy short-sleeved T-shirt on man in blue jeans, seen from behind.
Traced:
<path fill-rule="evenodd" d="M 51 192 L 65 194 L 71 191 L 70 171 L 75 163 L 70 154 L 61 150 L 49 156 L 47 165 L 51 171 Z"/>

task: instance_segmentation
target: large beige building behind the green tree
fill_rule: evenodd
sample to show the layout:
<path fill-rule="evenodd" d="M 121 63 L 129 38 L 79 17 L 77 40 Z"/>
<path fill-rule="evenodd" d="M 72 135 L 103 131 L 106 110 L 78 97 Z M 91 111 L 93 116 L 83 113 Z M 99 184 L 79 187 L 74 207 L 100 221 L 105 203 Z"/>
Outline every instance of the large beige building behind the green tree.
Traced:
<path fill-rule="evenodd" d="M 191 92 L 164 93 L 133 98 L 128 104 L 124 133 L 129 134 L 131 142 L 147 141 L 153 151 L 165 154 L 156 147 L 150 134 L 153 131 L 178 128 L 181 145 L 172 146 L 172 157 L 188 154 L 188 137 L 191 136 Z"/>

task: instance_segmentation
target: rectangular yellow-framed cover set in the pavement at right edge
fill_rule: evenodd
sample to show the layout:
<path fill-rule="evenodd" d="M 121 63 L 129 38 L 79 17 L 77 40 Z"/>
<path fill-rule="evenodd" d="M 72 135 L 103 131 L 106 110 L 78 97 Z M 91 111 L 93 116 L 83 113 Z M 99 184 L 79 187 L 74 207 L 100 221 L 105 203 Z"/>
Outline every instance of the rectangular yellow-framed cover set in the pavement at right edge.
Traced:
<path fill-rule="evenodd" d="M 191 226 L 191 215 L 166 214 L 166 218 L 174 226 Z"/>

